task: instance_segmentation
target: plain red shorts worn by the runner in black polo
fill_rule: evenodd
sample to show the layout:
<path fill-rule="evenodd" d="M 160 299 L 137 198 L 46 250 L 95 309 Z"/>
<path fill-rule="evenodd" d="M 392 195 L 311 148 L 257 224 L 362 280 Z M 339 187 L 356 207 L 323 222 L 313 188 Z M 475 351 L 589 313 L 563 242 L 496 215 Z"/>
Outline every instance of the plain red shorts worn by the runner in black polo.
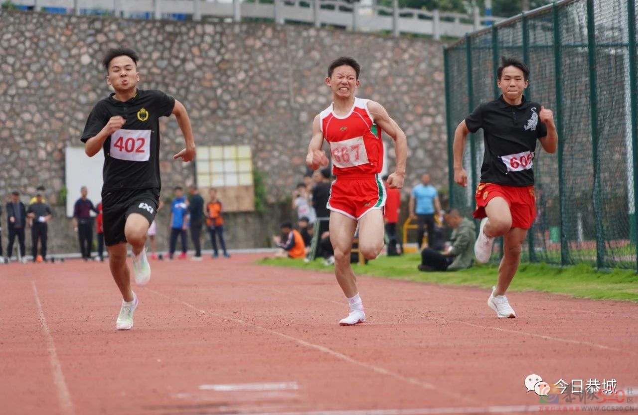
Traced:
<path fill-rule="evenodd" d="M 530 229 L 536 217 L 534 186 L 503 186 L 494 183 L 479 183 L 475 195 L 477 208 L 474 217 L 486 217 L 485 207 L 490 200 L 501 197 L 507 201 L 512 215 L 512 228 Z"/>

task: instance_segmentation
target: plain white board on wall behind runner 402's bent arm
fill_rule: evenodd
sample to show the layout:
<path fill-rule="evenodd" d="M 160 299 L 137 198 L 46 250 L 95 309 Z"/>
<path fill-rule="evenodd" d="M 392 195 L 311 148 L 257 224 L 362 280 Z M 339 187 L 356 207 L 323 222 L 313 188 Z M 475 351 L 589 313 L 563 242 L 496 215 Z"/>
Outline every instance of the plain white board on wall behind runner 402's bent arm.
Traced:
<path fill-rule="evenodd" d="M 104 153 L 102 150 L 93 157 L 84 152 L 84 147 L 66 147 L 64 152 L 66 173 L 66 215 L 73 216 L 73 206 L 80 198 L 80 188 L 86 186 L 89 190 L 89 200 L 98 205 L 102 200 L 102 167 Z"/>

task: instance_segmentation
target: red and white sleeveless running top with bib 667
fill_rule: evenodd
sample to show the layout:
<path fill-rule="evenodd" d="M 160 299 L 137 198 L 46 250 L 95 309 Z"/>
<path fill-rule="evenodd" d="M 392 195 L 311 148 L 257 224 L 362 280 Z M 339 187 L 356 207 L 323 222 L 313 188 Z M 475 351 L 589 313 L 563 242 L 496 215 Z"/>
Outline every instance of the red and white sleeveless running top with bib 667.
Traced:
<path fill-rule="evenodd" d="M 332 174 L 378 174 L 383 164 L 381 130 L 367 110 L 368 99 L 355 98 L 350 112 L 340 117 L 332 104 L 320 114 L 323 138 L 330 145 Z"/>

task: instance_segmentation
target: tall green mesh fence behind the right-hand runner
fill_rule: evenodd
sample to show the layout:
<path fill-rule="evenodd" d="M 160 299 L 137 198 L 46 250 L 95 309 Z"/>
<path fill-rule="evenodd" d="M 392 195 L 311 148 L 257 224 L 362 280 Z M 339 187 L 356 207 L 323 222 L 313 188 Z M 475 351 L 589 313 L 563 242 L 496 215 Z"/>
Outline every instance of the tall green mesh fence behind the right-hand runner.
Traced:
<path fill-rule="evenodd" d="M 501 56 L 526 62 L 526 98 L 554 111 L 558 151 L 537 145 L 538 217 L 525 260 L 638 270 L 637 1 L 564 0 L 445 49 L 450 205 L 464 215 L 475 206 L 483 136 L 479 130 L 468 138 L 463 188 L 454 184 L 454 129 L 481 101 L 500 95 Z"/>

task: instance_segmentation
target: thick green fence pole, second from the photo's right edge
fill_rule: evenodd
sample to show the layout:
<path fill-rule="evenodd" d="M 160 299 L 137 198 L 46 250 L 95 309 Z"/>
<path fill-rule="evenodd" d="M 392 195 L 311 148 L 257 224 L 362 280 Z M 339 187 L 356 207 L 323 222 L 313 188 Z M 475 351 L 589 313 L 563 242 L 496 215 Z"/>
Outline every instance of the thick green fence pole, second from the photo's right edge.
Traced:
<path fill-rule="evenodd" d="M 594 3 L 587 0 L 587 40 L 588 61 L 590 67 L 590 115 L 591 115 L 591 156 L 593 158 L 594 188 L 593 207 L 596 224 L 596 266 L 600 269 L 604 265 L 605 246 L 602 238 L 602 206 L 600 201 L 600 163 L 598 161 L 598 82 L 596 76 L 596 27 L 594 22 Z"/>

